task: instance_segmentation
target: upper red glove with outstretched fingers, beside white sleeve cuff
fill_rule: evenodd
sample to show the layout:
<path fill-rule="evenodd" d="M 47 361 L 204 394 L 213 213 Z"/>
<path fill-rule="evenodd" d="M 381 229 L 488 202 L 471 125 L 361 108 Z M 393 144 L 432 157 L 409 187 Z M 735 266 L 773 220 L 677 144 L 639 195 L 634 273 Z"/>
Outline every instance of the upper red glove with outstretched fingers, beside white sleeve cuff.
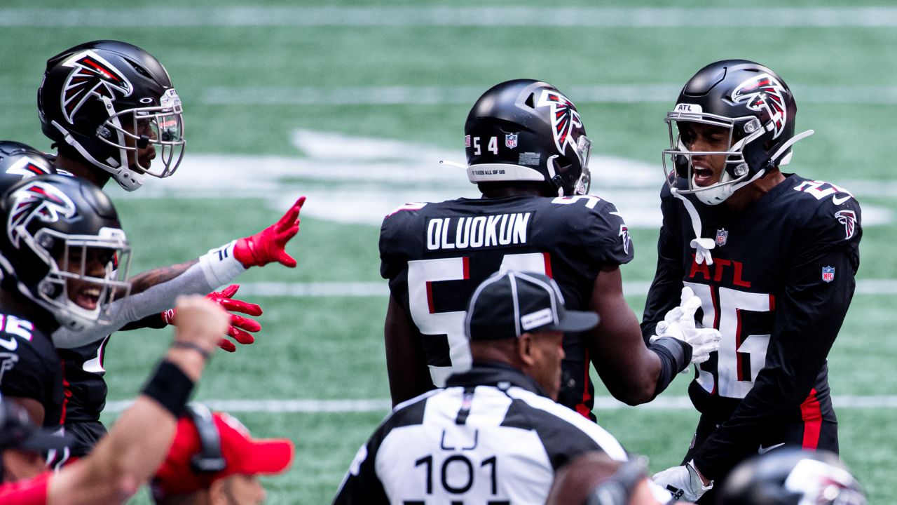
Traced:
<path fill-rule="evenodd" d="M 296 260 L 283 247 L 299 232 L 299 211 L 303 203 L 305 197 L 300 197 L 274 225 L 256 235 L 238 239 L 233 248 L 233 257 L 246 268 L 261 267 L 272 261 L 286 267 L 295 267 Z"/>

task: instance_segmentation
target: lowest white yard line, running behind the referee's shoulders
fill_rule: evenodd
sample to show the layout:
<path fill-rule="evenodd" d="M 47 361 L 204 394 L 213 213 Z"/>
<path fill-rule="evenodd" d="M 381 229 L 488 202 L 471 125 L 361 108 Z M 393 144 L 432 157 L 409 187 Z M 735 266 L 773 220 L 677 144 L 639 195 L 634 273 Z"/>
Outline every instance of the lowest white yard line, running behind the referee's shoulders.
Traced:
<path fill-rule="evenodd" d="M 391 403 L 387 399 L 362 400 L 202 400 L 214 410 L 226 412 L 266 412 L 266 413 L 320 413 L 320 412 L 388 412 Z M 121 412 L 129 407 L 133 400 L 117 400 L 106 403 L 104 413 Z M 832 403 L 836 409 L 897 409 L 897 395 L 877 396 L 833 396 Z M 596 411 L 613 411 L 621 409 L 642 410 L 691 410 L 692 401 L 687 396 L 660 396 L 651 403 L 630 407 L 614 398 L 601 396 L 595 399 Z"/>

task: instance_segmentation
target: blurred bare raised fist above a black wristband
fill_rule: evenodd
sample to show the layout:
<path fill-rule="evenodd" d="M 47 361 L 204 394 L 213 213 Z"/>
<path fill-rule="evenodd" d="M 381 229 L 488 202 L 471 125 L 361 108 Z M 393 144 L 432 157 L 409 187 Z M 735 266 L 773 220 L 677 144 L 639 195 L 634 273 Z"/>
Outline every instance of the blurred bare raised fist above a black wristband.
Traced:
<path fill-rule="evenodd" d="M 211 354 L 222 333 L 227 331 L 228 316 L 224 309 L 194 295 L 178 297 L 174 310 L 175 341 L 195 345 Z"/>

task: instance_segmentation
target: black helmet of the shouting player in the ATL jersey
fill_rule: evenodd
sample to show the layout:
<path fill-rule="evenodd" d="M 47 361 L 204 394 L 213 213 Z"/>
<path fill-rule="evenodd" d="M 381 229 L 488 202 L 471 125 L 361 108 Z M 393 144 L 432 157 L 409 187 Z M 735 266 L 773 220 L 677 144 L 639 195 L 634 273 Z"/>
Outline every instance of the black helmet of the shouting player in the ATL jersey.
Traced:
<path fill-rule="evenodd" d="M 785 81 L 760 64 L 745 59 L 727 59 L 701 68 L 682 88 L 673 111 L 667 112 L 670 148 L 663 152 L 664 172 L 671 185 L 668 164 L 688 181 L 687 190 L 708 205 L 716 205 L 743 186 L 763 177 L 791 160 L 791 146 L 813 134 L 795 136 L 797 105 Z M 721 152 L 689 150 L 689 128 L 697 122 L 727 128 L 729 148 Z M 692 156 L 726 155 L 726 168 L 719 182 L 697 186 L 693 180 Z"/>

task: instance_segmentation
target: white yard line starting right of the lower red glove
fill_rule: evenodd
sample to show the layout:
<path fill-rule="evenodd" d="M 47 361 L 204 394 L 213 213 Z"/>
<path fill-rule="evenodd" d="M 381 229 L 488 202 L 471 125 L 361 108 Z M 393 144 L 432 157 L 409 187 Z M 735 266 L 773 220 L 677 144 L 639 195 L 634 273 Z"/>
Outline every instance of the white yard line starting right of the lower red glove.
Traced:
<path fill-rule="evenodd" d="M 623 294 L 639 296 L 648 293 L 650 282 L 623 282 Z M 252 297 L 387 297 L 387 281 L 371 282 L 247 282 L 239 285 L 239 293 Z M 857 295 L 897 295 L 897 279 L 860 279 Z"/>

